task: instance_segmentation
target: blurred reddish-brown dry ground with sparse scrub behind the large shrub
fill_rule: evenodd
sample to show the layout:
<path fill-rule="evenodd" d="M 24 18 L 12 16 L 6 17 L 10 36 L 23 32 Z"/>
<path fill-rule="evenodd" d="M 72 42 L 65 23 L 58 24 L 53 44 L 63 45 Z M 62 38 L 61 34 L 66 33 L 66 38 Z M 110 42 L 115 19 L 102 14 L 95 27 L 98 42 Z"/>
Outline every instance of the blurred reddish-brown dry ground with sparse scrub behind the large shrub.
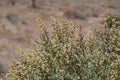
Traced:
<path fill-rule="evenodd" d="M 39 32 L 38 19 L 68 19 L 85 33 L 100 29 L 107 14 L 120 16 L 120 0 L 0 0 L 0 71 L 28 50 Z M 48 23 L 49 24 L 49 23 Z"/>

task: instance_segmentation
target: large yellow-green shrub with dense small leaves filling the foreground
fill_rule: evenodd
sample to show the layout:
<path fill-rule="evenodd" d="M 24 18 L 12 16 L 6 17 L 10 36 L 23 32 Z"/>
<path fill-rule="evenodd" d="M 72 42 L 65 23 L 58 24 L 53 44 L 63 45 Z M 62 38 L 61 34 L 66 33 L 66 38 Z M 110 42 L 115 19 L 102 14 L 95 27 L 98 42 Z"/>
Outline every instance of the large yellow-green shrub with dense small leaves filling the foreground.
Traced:
<path fill-rule="evenodd" d="M 83 36 L 79 26 L 67 21 L 53 20 L 51 31 L 41 24 L 33 48 L 22 52 L 7 76 L 11 80 L 119 80 L 120 27 L 105 26 L 99 33 Z"/>

